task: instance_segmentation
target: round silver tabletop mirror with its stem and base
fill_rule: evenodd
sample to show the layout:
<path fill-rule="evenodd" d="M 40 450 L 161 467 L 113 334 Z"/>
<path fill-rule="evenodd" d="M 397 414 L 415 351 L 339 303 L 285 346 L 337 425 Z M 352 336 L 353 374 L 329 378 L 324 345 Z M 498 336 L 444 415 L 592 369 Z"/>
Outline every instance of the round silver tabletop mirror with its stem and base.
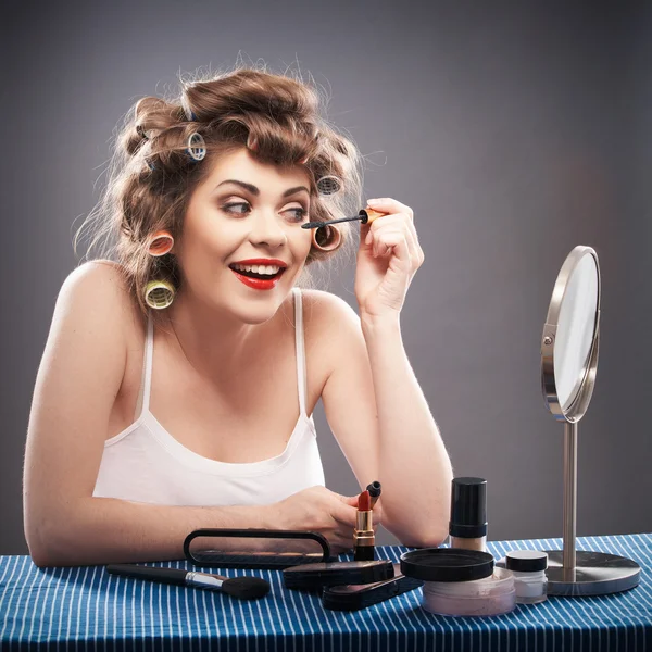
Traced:
<path fill-rule="evenodd" d="M 595 384 L 600 292 L 598 254 L 590 247 L 576 247 L 554 284 L 541 338 L 543 397 L 550 412 L 564 423 L 564 548 L 548 551 L 551 595 L 615 593 L 635 587 L 640 578 L 640 567 L 631 560 L 575 550 L 577 424 Z"/>

